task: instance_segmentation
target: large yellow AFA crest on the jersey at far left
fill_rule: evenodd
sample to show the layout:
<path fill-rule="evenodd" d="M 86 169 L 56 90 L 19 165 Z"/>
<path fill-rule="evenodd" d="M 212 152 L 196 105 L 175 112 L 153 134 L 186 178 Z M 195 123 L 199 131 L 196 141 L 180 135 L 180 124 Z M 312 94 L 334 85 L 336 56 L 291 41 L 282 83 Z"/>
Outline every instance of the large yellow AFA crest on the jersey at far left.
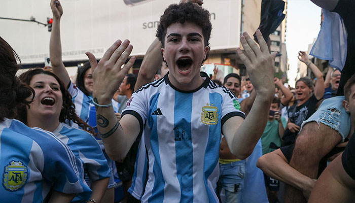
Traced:
<path fill-rule="evenodd" d="M 28 168 L 21 161 L 11 161 L 5 166 L 3 186 L 6 190 L 16 191 L 20 189 L 28 179 Z"/>

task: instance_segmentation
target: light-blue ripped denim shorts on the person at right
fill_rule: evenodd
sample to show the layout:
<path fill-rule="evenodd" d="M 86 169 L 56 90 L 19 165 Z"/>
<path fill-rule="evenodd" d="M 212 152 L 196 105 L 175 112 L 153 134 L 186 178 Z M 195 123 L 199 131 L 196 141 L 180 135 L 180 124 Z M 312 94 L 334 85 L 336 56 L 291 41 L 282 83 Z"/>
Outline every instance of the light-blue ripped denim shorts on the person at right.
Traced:
<path fill-rule="evenodd" d="M 308 122 L 315 121 L 318 123 L 318 126 L 319 123 L 323 123 L 336 130 L 342 138 L 341 142 L 344 142 L 344 139 L 350 132 L 350 115 L 346 113 L 342 105 L 343 100 L 345 100 L 344 96 L 335 96 L 325 99 L 318 110 L 307 120 L 303 121 L 301 130 Z"/>

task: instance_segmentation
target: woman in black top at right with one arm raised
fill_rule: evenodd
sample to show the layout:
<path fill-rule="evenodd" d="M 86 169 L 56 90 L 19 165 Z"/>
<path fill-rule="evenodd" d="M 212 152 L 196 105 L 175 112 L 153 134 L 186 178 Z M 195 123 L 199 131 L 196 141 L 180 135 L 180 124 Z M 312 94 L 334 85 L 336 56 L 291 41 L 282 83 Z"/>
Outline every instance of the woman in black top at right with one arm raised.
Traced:
<path fill-rule="evenodd" d="M 306 52 L 300 51 L 299 60 L 306 63 L 315 75 L 316 81 L 313 91 L 313 82 L 308 77 L 300 78 L 296 81 L 296 99 L 295 104 L 287 111 L 289 121 L 282 140 L 285 145 L 292 145 L 296 141 L 297 133 L 301 130 L 301 124 L 307 120 L 316 110 L 316 105 L 324 95 L 323 73 L 313 64 Z M 314 92 L 312 94 L 312 92 Z"/>

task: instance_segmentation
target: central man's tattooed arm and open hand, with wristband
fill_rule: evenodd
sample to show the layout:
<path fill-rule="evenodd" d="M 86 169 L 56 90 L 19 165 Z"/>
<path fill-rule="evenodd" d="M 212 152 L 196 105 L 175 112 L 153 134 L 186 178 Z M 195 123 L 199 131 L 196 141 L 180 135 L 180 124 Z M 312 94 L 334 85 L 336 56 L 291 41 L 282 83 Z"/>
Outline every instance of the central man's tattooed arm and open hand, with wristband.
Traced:
<path fill-rule="evenodd" d="M 94 89 L 92 96 L 95 103 L 107 105 L 122 83 L 128 70 L 132 67 L 135 57 L 131 57 L 123 66 L 133 46 L 128 40 L 116 41 L 97 63 L 95 56 L 86 52 L 92 68 Z M 132 115 L 126 115 L 118 121 L 112 105 L 96 106 L 97 127 L 105 145 L 105 150 L 114 160 L 123 158 L 135 141 L 140 131 L 138 120 Z"/>

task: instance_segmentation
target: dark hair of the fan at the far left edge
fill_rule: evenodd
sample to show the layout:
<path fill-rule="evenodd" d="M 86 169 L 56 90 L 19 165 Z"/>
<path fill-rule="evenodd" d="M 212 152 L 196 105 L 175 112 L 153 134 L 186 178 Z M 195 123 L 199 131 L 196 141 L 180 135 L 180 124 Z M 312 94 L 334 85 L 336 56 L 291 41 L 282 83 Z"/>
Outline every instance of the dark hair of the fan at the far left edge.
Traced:
<path fill-rule="evenodd" d="M 0 122 L 16 116 L 16 106 L 31 103 L 34 91 L 15 76 L 21 64 L 17 53 L 0 37 Z"/>

